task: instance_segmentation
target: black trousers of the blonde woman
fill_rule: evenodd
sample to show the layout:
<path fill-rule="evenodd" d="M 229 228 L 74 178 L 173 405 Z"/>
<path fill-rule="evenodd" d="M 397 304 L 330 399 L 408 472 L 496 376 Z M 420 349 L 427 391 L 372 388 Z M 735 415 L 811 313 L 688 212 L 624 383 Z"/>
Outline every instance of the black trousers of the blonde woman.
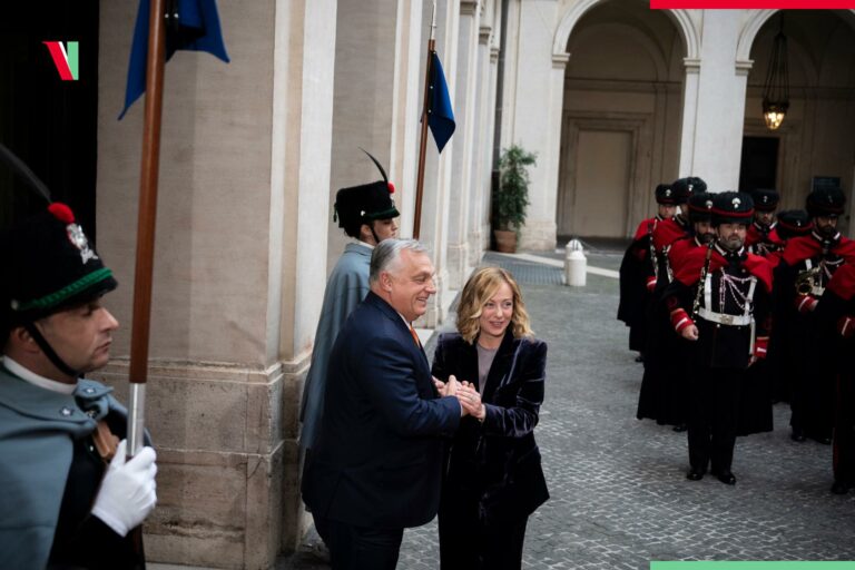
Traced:
<path fill-rule="evenodd" d="M 520 570 L 528 521 L 525 517 L 485 525 L 479 520 L 476 499 L 444 501 L 440 508 L 440 568 Z"/>

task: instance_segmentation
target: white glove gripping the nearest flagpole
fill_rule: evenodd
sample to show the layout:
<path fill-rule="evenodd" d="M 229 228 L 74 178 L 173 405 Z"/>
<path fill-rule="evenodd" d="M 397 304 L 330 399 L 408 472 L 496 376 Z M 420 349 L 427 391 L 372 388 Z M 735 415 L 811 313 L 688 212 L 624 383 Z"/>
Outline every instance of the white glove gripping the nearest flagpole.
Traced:
<path fill-rule="evenodd" d="M 92 514 L 120 537 L 146 520 L 157 503 L 155 450 L 142 448 L 126 461 L 126 448 L 127 441 L 121 440 L 92 507 Z"/>

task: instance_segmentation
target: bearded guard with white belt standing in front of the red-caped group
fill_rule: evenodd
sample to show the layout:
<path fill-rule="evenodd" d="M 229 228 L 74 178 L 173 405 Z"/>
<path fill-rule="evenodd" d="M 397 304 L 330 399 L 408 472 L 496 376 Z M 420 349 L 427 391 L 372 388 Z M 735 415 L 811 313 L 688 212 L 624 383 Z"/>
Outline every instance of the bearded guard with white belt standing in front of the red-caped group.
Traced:
<path fill-rule="evenodd" d="M 716 240 L 689 253 L 664 294 L 671 326 L 691 347 L 687 478 L 692 481 L 711 464 L 719 481 L 736 483 L 731 463 L 743 379 L 766 355 L 772 266 L 745 250 L 753 215 L 749 195 L 716 194 Z"/>

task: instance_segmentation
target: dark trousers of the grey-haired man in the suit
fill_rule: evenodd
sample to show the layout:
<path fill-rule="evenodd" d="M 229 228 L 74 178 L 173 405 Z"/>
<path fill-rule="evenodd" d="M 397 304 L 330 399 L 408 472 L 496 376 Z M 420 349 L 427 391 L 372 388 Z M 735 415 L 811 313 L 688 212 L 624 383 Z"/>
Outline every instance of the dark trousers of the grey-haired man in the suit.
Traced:
<path fill-rule="evenodd" d="M 314 513 L 313 518 L 318 533 L 326 534 L 333 570 L 394 570 L 397 566 L 404 529 L 355 527 Z"/>

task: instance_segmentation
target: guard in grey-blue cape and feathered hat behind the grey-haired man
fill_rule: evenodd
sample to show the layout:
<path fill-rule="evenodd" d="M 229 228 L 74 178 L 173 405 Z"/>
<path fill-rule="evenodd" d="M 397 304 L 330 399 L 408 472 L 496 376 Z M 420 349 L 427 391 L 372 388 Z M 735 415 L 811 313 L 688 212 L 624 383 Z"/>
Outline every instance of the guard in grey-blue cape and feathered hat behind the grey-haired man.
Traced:
<path fill-rule="evenodd" d="M 326 281 L 321 320 L 315 331 L 312 365 L 306 374 L 299 407 L 299 421 L 303 422 L 299 445 L 304 449 L 312 449 L 317 440 L 333 343 L 347 316 L 368 294 L 371 253 L 374 246 L 395 237 L 397 232 L 395 218 L 400 214 L 392 199 L 395 187 L 386 178 L 380 163 L 371 155 L 368 158 L 376 165 L 383 179 L 342 188 L 335 195 L 334 219 L 338 220 L 338 227 L 343 228 L 353 242 L 345 246 Z"/>

